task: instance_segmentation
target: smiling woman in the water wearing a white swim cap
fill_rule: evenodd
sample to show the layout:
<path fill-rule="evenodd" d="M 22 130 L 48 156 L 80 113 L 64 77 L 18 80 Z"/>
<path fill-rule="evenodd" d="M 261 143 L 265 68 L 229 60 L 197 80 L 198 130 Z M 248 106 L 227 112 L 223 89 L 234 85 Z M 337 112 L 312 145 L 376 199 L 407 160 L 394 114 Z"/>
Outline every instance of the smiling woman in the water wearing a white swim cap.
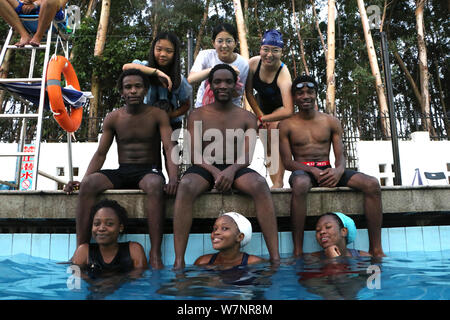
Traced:
<path fill-rule="evenodd" d="M 195 261 L 195 265 L 220 265 L 224 269 L 263 262 L 264 259 L 241 252 L 240 248 L 250 242 L 252 225 L 243 215 L 227 212 L 216 219 L 211 232 L 215 254 L 206 254 Z"/>

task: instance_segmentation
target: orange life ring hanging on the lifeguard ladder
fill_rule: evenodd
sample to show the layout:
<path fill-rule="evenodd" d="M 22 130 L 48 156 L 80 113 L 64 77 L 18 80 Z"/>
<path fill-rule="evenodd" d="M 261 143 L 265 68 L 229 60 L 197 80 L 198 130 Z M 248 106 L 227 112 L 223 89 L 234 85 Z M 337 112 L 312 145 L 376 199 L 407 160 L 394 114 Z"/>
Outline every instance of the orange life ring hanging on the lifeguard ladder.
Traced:
<path fill-rule="evenodd" d="M 81 90 L 77 75 L 69 60 L 63 56 L 52 57 L 48 63 L 45 81 L 50 108 L 53 111 L 53 117 L 61 128 L 67 132 L 75 132 L 80 127 L 83 108 L 71 107 L 70 116 L 67 113 L 61 92 L 61 73 L 64 75 L 67 85 L 72 85 L 75 89 Z"/>

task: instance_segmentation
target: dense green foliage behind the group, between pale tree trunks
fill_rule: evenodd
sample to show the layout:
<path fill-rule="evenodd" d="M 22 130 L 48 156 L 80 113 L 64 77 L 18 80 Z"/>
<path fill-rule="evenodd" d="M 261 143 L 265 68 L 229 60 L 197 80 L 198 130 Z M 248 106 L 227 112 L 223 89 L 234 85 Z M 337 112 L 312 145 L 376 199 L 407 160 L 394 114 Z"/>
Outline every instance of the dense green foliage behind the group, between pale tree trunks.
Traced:
<path fill-rule="evenodd" d="M 71 4 L 81 6 L 82 16 L 85 15 L 89 1 L 71 1 Z M 369 5 L 378 5 L 383 11 L 384 0 L 366 1 Z M 244 5 L 244 1 L 241 1 Z M 248 0 L 248 11 L 244 12 L 247 22 L 247 41 L 250 56 L 259 54 L 260 35 L 267 29 L 278 29 L 283 33 L 285 48 L 283 62 L 286 63 L 292 76 L 300 75 L 305 68 L 300 56 L 300 44 L 292 17 L 291 0 Z M 409 72 L 419 83 L 417 66 L 417 37 L 415 29 L 415 1 L 388 1 L 390 4 L 386 12 L 384 30 L 388 34 L 390 46 L 390 63 L 395 95 L 395 105 L 399 112 L 408 113 L 418 107 L 418 102 L 406 80 L 403 71 L 398 67 L 392 52 L 395 50 L 402 57 Z M 123 0 L 111 2 L 106 46 L 101 57 L 94 57 L 98 21 L 100 17 L 101 1 L 98 1 L 92 17 L 84 17 L 81 27 L 76 31 L 72 41 L 72 64 L 78 75 L 82 90 L 89 91 L 92 75 L 101 81 L 100 110 L 98 114 L 104 116 L 107 112 L 120 106 L 120 97 L 115 89 L 116 81 L 121 73 L 123 64 L 134 59 L 147 60 L 152 35 L 155 28 L 158 31 L 170 30 L 175 32 L 182 42 L 182 64 L 186 75 L 187 61 L 187 33 L 193 31 L 194 37 L 198 33 L 203 18 L 206 0 Z M 378 114 L 377 96 L 374 79 L 367 57 L 361 19 L 356 1 L 336 1 L 336 105 L 338 115 L 346 114 L 349 127 L 357 126 L 362 132 L 373 127 L 362 117 Z M 316 13 L 321 17 L 320 29 L 327 37 L 327 1 L 315 1 Z M 325 57 L 324 48 L 319 39 L 314 23 L 311 3 L 308 0 L 295 1 L 297 21 L 303 39 L 305 58 L 308 68 L 320 83 L 319 107 L 324 107 L 326 94 Z M 450 72 L 449 72 L 449 24 L 448 5 L 446 1 L 428 1 L 425 8 L 425 29 L 427 31 L 427 53 L 430 73 L 430 95 L 432 111 L 442 116 L 443 106 L 440 100 L 438 80 L 442 85 L 443 100 L 450 106 Z M 214 26 L 219 22 L 235 24 L 232 1 L 211 0 L 208 20 L 201 41 L 201 48 L 211 48 L 211 35 Z M 0 20 L 0 41 L 4 42 L 8 26 Z M 380 35 L 378 30 L 372 30 L 375 50 L 379 57 L 381 69 Z M 197 41 L 197 39 L 194 39 Z M 195 45 L 195 43 L 194 43 Z M 17 51 L 18 52 L 18 51 Z M 38 60 L 43 59 L 39 54 Z M 15 54 L 11 62 L 9 76 L 26 75 L 29 56 L 22 53 Z M 38 64 L 37 64 L 38 65 Z M 294 71 L 295 70 L 295 71 Z M 41 70 L 36 68 L 35 73 Z M 5 101 L 12 101 L 9 96 Z M 6 102 L 5 102 L 6 103 Z M 4 105 L 5 105 L 4 103 Z M 6 108 L 4 108 L 6 110 Z M 87 116 L 87 110 L 86 116 Z M 61 131 L 51 115 L 47 115 L 45 123 L 45 139 L 62 139 Z M 52 122 L 53 121 L 53 122 Z M 87 121 L 77 132 L 77 137 L 84 137 Z M 412 125 L 412 124 L 411 124 Z M 6 136 L 2 140 L 14 140 L 10 128 L 3 128 L 0 132 Z M 361 133 L 362 134 L 362 133 Z M 362 134 L 362 136 L 364 136 Z M 369 137 L 370 135 L 367 135 Z M 61 138 L 62 137 L 62 138 Z M 82 138 L 81 138 L 82 139 Z"/>

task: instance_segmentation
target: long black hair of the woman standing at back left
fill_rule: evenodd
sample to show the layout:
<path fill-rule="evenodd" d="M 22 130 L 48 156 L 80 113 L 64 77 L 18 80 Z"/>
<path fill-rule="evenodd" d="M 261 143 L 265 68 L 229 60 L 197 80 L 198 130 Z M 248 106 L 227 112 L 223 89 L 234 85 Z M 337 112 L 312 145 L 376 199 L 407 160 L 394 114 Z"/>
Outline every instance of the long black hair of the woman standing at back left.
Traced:
<path fill-rule="evenodd" d="M 155 46 L 159 40 L 168 40 L 173 44 L 174 47 L 174 55 L 172 63 L 168 66 L 168 70 L 164 70 L 164 72 L 170 77 L 172 80 L 172 87 L 174 89 L 178 88 L 181 83 L 181 66 L 180 66 L 180 40 L 178 37 L 169 31 L 161 31 L 159 32 L 155 39 L 152 41 L 152 45 L 150 48 L 150 54 L 148 58 L 149 67 L 160 69 L 161 67 L 155 61 Z"/>

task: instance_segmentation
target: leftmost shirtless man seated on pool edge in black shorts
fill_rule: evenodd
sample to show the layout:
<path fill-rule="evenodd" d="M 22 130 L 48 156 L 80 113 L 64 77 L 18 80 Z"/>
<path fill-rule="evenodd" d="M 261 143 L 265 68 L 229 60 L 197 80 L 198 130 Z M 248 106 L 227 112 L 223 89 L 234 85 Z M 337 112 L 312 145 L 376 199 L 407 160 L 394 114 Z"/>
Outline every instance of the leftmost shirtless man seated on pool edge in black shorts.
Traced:
<path fill-rule="evenodd" d="M 118 81 L 125 105 L 108 113 L 97 151 L 89 163 L 83 180 L 70 181 L 64 191 L 80 188 L 76 209 L 77 247 L 91 239 L 89 212 L 97 195 L 107 189 L 142 189 L 147 194 L 147 223 L 150 234 L 150 264 L 162 268 L 161 243 L 164 225 L 164 192 L 175 195 L 178 168 L 167 161 L 169 182 L 165 184 L 161 167 L 161 141 L 166 154 L 174 143 L 167 113 L 143 103 L 149 88 L 147 76 L 139 70 L 124 71 Z M 100 170 L 108 150 L 116 139 L 120 167 Z"/>

